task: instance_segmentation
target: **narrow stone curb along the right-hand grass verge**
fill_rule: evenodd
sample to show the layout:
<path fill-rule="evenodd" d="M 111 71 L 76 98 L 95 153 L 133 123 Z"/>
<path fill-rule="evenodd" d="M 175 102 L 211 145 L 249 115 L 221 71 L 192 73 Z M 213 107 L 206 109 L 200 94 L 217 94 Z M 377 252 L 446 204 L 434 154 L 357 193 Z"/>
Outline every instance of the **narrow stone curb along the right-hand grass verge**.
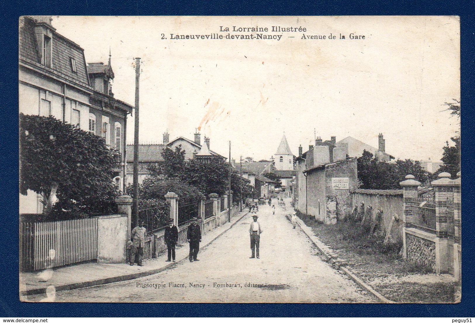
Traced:
<path fill-rule="evenodd" d="M 286 215 L 289 218 L 289 215 Z M 330 264 L 333 265 L 334 268 L 342 270 L 348 277 L 352 279 L 356 284 L 358 284 L 361 288 L 365 289 L 368 293 L 370 293 L 374 298 L 379 300 L 381 303 L 396 303 L 390 301 L 380 293 L 376 292 L 370 285 L 363 282 L 360 278 L 358 278 L 355 274 L 352 273 L 351 270 L 346 268 L 343 264 L 344 261 L 338 259 L 338 254 L 336 254 L 333 250 L 328 248 L 325 244 L 323 244 L 316 235 L 314 235 L 313 231 L 304 224 L 302 225 L 302 220 L 297 216 L 297 224 L 302 229 L 302 231 L 307 235 L 310 240 L 314 243 L 314 245 L 322 252 L 322 254 L 329 260 Z M 310 232 L 309 232 L 310 231 Z"/>

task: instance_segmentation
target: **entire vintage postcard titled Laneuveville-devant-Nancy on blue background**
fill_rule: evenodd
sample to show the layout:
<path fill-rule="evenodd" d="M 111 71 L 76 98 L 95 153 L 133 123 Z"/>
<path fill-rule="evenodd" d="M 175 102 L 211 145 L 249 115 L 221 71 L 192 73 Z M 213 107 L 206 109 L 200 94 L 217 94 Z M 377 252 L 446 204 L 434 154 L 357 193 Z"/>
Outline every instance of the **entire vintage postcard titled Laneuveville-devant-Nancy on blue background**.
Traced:
<path fill-rule="evenodd" d="M 458 303 L 456 16 L 19 19 L 24 302 Z"/>

